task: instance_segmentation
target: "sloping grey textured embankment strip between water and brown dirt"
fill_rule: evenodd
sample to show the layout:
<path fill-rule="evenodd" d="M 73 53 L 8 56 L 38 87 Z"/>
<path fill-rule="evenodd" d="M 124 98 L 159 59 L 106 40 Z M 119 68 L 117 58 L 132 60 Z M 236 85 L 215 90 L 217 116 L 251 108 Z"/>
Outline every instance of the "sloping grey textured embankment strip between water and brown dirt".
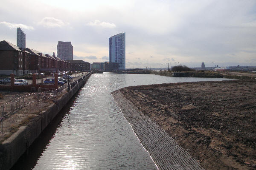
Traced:
<path fill-rule="evenodd" d="M 198 161 L 193 159 L 154 121 L 125 99 L 120 91 L 114 91 L 112 95 L 158 169 L 203 170 Z"/>

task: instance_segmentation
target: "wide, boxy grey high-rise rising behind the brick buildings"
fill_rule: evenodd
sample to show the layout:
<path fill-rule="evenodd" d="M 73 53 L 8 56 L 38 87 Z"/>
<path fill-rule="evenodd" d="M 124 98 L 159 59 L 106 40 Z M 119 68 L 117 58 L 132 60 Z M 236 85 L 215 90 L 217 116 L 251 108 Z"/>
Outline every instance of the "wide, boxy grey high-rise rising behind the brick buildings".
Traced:
<path fill-rule="evenodd" d="M 57 57 L 64 60 L 73 60 L 73 45 L 71 44 L 71 42 L 58 42 Z"/>

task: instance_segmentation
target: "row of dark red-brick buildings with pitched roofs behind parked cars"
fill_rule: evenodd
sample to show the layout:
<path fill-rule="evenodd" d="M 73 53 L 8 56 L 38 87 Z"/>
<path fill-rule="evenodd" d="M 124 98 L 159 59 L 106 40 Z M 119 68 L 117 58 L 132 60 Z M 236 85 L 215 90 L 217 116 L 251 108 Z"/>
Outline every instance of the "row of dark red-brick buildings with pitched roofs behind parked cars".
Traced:
<path fill-rule="evenodd" d="M 5 40 L 0 42 L 0 74 L 55 73 L 57 67 L 68 71 L 70 63 L 31 48 L 19 48 Z"/>

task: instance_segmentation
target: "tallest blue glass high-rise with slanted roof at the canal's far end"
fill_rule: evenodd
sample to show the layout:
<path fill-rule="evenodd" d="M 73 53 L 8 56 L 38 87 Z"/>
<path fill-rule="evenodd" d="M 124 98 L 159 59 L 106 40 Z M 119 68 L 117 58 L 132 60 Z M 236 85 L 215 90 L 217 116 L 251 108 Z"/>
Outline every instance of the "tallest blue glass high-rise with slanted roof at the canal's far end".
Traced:
<path fill-rule="evenodd" d="M 109 62 L 118 62 L 118 69 L 125 70 L 125 32 L 108 39 Z"/>

